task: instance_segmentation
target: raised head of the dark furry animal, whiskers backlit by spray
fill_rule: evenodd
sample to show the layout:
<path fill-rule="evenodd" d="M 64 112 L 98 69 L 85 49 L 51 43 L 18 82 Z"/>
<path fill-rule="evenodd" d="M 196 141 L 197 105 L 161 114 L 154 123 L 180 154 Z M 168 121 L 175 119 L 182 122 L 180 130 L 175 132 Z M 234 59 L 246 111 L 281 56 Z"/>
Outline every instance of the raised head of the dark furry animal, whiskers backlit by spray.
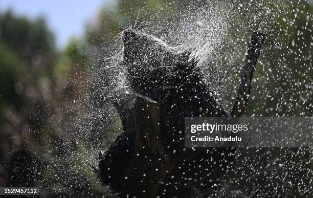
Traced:
<path fill-rule="evenodd" d="M 196 65 L 194 59 L 189 58 L 189 51 L 178 52 L 152 35 L 126 29 L 122 39 L 123 63 L 131 86 L 152 99 L 163 99 L 169 92 L 168 87 L 177 88 Z"/>

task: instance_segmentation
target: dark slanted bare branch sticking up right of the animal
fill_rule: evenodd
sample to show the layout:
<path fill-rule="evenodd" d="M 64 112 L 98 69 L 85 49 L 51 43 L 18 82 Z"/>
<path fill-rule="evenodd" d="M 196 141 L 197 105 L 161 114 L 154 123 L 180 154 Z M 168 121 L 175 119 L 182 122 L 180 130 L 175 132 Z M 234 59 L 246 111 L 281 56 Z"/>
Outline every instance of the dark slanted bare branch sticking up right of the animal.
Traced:
<path fill-rule="evenodd" d="M 236 99 L 233 107 L 229 111 L 230 116 L 240 116 L 247 105 L 254 68 L 260 55 L 264 39 L 265 35 L 262 33 L 254 32 L 252 35 L 248 47 L 248 55 L 245 57 L 245 64 L 241 70 L 240 84 L 236 93 Z"/>

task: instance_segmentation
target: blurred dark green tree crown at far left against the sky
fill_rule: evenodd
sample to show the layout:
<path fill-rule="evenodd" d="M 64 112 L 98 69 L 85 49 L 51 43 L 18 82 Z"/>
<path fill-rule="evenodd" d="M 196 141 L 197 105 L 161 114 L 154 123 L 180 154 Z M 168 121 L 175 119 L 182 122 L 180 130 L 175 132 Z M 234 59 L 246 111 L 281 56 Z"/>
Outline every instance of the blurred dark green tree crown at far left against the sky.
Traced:
<path fill-rule="evenodd" d="M 18 94 L 23 89 L 20 81 L 34 82 L 49 73 L 55 53 L 53 35 L 42 18 L 30 21 L 14 16 L 11 11 L 0 14 L 2 103 L 20 106 Z"/>

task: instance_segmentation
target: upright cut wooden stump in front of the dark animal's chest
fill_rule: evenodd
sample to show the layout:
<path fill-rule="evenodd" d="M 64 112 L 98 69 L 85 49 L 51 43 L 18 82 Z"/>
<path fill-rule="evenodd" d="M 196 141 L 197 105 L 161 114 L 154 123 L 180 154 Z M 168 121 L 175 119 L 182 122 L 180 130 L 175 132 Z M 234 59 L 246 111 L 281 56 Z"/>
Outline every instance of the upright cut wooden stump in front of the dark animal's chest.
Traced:
<path fill-rule="evenodd" d="M 136 98 L 134 158 L 131 171 L 132 194 L 155 197 L 158 185 L 171 170 L 172 161 L 165 155 L 161 142 L 160 104 L 142 95 Z"/>

